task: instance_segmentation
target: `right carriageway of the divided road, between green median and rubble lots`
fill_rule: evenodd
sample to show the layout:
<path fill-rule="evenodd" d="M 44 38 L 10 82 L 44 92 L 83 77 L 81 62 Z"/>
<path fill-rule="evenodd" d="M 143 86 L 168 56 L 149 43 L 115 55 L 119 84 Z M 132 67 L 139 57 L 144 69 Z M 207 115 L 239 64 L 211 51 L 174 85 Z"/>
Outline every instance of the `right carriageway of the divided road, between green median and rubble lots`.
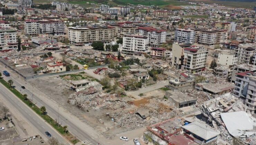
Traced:
<path fill-rule="evenodd" d="M 2 72 L 3 69 L 4 68 L 1 67 L 0 72 Z M 6 81 L 12 79 L 13 86 L 15 86 L 17 90 L 21 91 L 22 94 L 27 94 L 28 98 L 30 100 L 33 100 L 33 102 L 38 107 L 45 106 L 48 115 L 54 119 L 58 119 L 62 126 L 67 125 L 68 131 L 72 133 L 75 137 L 77 137 L 80 141 L 84 141 L 86 145 L 97 145 L 98 141 L 96 141 L 96 139 L 98 134 L 93 132 L 93 129 L 91 127 L 89 127 L 88 125 L 86 126 L 75 116 L 67 114 L 61 106 L 59 107 L 57 104 L 53 103 L 52 100 L 48 99 L 47 97 L 43 97 L 43 94 L 37 94 L 38 92 L 35 92 L 35 90 L 33 92 L 33 89 L 27 89 L 27 87 L 26 89 L 22 89 L 21 86 L 27 86 L 25 84 L 25 81 L 22 81 L 21 78 L 17 78 L 14 72 L 9 70 L 8 72 L 10 73 L 10 77 L 4 77 Z M 101 143 L 101 141 L 99 142 L 101 145 L 103 144 Z"/>

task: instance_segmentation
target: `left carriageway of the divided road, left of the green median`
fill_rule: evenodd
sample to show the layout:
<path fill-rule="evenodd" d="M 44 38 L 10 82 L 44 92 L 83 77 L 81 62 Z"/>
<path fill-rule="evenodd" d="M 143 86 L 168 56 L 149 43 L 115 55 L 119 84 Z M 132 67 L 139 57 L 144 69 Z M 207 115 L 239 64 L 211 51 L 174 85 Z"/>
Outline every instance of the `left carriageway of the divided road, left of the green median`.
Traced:
<path fill-rule="evenodd" d="M 4 77 L 6 79 L 6 77 Z M 48 123 L 46 123 L 41 117 L 39 117 L 33 110 L 31 110 L 26 104 L 24 104 L 18 97 L 11 93 L 6 87 L 0 84 L 0 97 L 5 99 L 11 104 L 8 107 L 14 107 L 18 110 L 19 114 L 29 120 L 29 124 L 38 129 L 40 135 L 45 141 L 48 138 L 45 132 L 48 131 L 53 137 L 57 138 L 61 143 L 68 145 L 70 144 L 63 136 L 55 131 Z"/>

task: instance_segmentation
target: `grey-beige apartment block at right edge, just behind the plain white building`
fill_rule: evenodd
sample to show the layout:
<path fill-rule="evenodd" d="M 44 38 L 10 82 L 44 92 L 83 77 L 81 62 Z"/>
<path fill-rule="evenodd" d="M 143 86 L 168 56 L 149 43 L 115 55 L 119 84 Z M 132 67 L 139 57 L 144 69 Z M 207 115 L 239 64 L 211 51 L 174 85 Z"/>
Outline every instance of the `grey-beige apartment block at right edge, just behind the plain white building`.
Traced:
<path fill-rule="evenodd" d="M 254 45 L 239 44 L 238 48 L 234 49 L 236 55 L 238 56 L 238 63 L 251 63 L 255 50 L 256 47 Z"/>

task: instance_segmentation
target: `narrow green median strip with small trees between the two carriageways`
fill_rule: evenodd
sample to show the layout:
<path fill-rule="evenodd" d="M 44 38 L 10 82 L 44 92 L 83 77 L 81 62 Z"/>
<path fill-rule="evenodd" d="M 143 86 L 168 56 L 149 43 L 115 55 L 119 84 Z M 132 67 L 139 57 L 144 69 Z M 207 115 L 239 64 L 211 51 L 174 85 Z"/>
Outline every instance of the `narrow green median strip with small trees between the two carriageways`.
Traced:
<path fill-rule="evenodd" d="M 34 105 L 29 99 L 25 100 L 24 96 L 15 88 L 11 88 L 10 85 L 4 79 L 0 78 L 0 83 L 2 83 L 6 88 L 8 88 L 13 94 L 15 94 L 19 99 L 21 99 L 25 104 L 27 104 L 34 112 L 36 112 L 40 117 L 42 117 L 48 124 L 55 128 L 60 134 L 62 134 L 68 141 L 73 144 L 79 142 L 79 140 L 69 132 L 65 132 L 63 126 L 59 125 L 56 120 L 50 116 L 43 115 L 41 109 Z"/>

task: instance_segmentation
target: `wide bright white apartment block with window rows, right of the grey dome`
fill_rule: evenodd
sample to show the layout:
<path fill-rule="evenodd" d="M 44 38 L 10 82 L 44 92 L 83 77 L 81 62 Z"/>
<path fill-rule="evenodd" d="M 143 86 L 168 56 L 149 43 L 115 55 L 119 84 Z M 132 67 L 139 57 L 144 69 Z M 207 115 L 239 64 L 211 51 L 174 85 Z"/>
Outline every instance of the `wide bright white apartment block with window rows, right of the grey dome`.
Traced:
<path fill-rule="evenodd" d="M 149 37 L 139 35 L 125 35 L 123 37 L 122 54 L 130 56 L 144 56 L 149 54 L 147 51 Z"/>

